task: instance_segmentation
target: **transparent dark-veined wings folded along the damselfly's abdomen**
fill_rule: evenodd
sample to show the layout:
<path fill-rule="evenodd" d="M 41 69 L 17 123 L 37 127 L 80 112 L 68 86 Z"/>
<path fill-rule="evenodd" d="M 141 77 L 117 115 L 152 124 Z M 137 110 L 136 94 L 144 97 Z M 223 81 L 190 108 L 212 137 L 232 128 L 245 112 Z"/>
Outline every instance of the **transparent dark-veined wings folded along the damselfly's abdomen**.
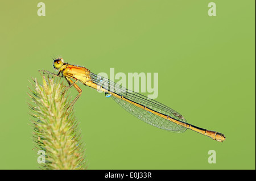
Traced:
<path fill-rule="evenodd" d="M 108 78 L 101 77 L 100 75 L 90 73 L 90 77 L 92 77 L 93 83 L 100 85 L 102 88 L 108 90 L 109 92 L 114 92 L 115 94 L 131 100 L 132 102 L 141 104 L 142 106 L 162 113 L 163 115 L 170 116 L 171 118 L 179 120 L 183 123 L 187 123 L 187 121 L 184 119 L 183 116 L 180 115 L 180 113 L 172 110 L 170 107 L 164 106 L 164 104 L 161 104 L 156 100 L 149 99 L 146 96 L 139 94 L 138 92 L 127 90 L 118 85 L 117 83 L 110 81 Z M 144 121 L 145 123 L 153 125 L 154 127 L 176 133 L 182 133 L 187 130 L 187 128 L 182 127 L 181 125 L 172 123 L 171 121 L 164 119 L 163 117 L 148 112 L 147 110 L 143 110 L 142 108 L 126 102 L 123 99 L 119 99 L 115 96 L 112 96 L 112 98 L 115 100 L 115 102 L 119 104 L 119 106 L 124 108 L 126 111 L 130 112 L 132 115 Z"/>

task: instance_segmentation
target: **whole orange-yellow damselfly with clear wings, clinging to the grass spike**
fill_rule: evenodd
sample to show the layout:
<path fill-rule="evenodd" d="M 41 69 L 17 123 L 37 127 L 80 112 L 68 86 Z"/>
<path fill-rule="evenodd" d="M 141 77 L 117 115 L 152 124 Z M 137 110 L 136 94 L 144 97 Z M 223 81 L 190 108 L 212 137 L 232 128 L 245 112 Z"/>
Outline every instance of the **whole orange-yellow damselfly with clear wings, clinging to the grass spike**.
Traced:
<path fill-rule="evenodd" d="M 108 78 L 98 76 L 82 66 L 71 65 L 65 63 L 63 58 L 57 58 L 53 61 L 53 67 L 59 70 L 59 73 L 53 74 L 46 70 L 42 71 L 57 77 L 64 77 L 67 79 L 69 87 L 74 86 L 79 92 L 79 95 L 76 96 L 71 105 L 76 102 L 82 93 L 80 87 L 76 85 L 77 81 L 80 81 L 86 86 L 105 92 L 107 97 L 111 96 L 119 106 L 145 123 L 176 133 L 182 133 L 187 129 L 191 129 L 216 141 L 222 142 L 225 140 L 224 134 L 188 124 L 180 113 L 172 110 L 170 107 L 164 106 L 156 100 L 149 99 L 137 92 L 122 88 Z M 75 81 L 72 81 L 71 78 Z"/>

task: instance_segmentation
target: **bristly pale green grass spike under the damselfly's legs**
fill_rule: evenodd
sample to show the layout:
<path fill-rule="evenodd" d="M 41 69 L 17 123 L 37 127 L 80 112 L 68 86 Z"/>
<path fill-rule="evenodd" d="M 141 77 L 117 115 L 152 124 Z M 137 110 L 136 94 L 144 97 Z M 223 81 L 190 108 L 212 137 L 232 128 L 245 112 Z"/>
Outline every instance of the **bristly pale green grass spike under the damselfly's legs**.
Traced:
<path fill-rule="evenodd" d="M 81 130 L 59 78 L 32 79 L 30 108 L 32 140 L 41 169 L 86 169 Z"/>

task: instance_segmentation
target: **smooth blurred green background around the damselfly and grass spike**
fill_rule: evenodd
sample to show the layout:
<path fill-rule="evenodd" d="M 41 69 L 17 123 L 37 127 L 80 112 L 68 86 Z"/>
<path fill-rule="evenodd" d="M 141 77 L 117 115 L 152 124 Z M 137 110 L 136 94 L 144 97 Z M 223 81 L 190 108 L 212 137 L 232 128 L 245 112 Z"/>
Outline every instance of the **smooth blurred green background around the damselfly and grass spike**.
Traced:
<path fill-rule="evenodd" d="M 88 169 L 255 169 L 255 1 L 213 1 L 217 16 L 203 0 L 43 1 L 46 16 L 38 2 L 1 0 L 0 169 L 39 167 L 28 80 L 53 71 L 51 56 L 93 73 L 156 72 L 156 100 L 226 136 L 163 131 L 79 84 Z"/>

